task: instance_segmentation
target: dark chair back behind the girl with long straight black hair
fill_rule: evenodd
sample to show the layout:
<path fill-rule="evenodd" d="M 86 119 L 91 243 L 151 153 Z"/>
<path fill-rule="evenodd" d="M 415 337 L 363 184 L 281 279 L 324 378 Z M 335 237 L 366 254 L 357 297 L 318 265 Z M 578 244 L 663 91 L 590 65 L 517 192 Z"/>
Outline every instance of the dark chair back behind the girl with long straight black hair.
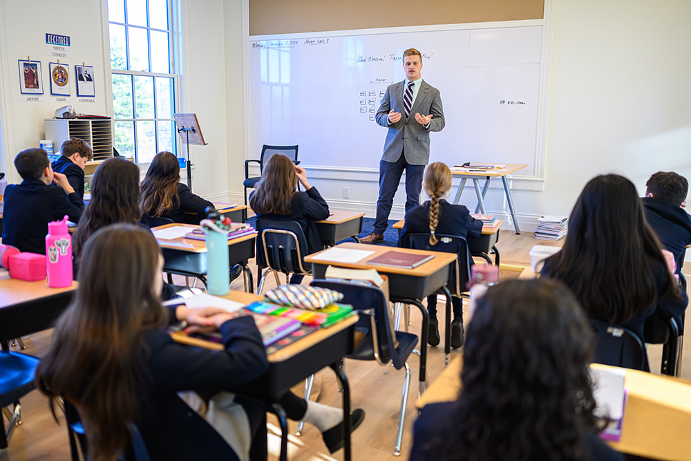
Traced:
<path fill-rule="evenodd" d="M 595 334 L 594 363 L 648 371 L 645 346 L 636 333 L 605 321 L 588 322 Z"/>

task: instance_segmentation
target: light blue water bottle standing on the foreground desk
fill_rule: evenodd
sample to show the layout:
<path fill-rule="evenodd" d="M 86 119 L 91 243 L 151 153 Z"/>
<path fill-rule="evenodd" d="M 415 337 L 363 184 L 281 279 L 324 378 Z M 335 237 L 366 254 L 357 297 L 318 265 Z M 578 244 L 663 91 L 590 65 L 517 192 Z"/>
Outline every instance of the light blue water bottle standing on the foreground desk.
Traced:
<path fill-rule="evenodd" d="M 208 218 L 200 223 L 207 242 L 207 291 L 223 296 L 230 291 L 228 229 L 215 210 L 207 212 Z"/>

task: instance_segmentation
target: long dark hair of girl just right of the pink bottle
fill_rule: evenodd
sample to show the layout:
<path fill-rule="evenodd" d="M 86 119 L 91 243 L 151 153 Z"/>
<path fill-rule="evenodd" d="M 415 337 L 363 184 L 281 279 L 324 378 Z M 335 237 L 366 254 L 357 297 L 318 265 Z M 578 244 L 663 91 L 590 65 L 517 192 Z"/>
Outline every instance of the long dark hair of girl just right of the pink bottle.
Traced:
<path fill-rule="evenodd" d="M 72 237 L 75 261 L 79 263 L 82 247 L 91 234 L 113 223 L 138 223 L 139 168 L 124 158 L 108 158 L 100 164 L 91 181 L 89 200 Z"/>

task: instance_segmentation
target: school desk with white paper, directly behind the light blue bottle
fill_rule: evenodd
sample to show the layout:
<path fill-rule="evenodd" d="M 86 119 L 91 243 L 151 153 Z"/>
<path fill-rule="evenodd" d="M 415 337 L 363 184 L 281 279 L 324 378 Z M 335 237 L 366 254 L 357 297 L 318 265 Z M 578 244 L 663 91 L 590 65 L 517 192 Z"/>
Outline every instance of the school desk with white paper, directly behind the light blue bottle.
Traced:
<path fill-rule="evenodd" d="M 192 232 L 193 229 L 199 228 L 198 225 L 176 223 L 153 227 L 151 230 L 156 231 L 175 226 L 189 227 L 190 232 Z M 238 238 L 231 238 L 228 241 L 229 267 L 233 267 L 236 264 L 243 267 L 245 290 L 248 292 L 254 290 L 252 271 L 249 270 L 247 263 L 250 259 L 254 258 L 255 240 L 256 233 Z M 161 252 L 165 259 L 163 265 L 164 272 L 197 277 L 204 282 L 204 285 L 207 284 L 207 243 L 205 241 L 183 237 L 173 240 L 157 238 L 156 241 L 158 242 L 158 246 L 161 247 Z"/>

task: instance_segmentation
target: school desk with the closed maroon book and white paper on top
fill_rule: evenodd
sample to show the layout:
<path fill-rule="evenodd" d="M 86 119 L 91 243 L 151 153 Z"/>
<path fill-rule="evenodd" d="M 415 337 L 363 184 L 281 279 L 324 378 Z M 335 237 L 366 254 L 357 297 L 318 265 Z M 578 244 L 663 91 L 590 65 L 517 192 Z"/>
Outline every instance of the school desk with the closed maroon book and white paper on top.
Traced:
<path fill-rule="evenodd" d="M 420 335 L 420 375 L 419 388 L 420 393 L 425 389 L 426 383 L 426 363 L 427 363 L 427 325 L 428 314 L 427 309 L 422 305 L 422 299 L 425 299 L 430 294 L 434 294 L 442 290 L 446 295 L 446 337 L 444 341 L 444 352 L 446 354 L 446 363 L 451 354 L 451 293 L 448 292 L 446 284 L 451 276 L 451 268 L 458 264 L 457 255 L 453 253 L 442 252 L 426 252 L 423 250 L 410 250 L 408 248 L 392 248 L 380 245 L 364 245 L 361 243 L 341 243 L 334 248 L 345 248 L 352 250 L 366 250 L 374 252 L 370 256 L 363 258 L 357 263 L 341 263 L 334 261 L 322 261 L 316 259 L 319 254 L 328 251 L 310 254 L 305 256 L 305 263 L 312 264 L 312 276 L 315 279 L 323 279 L 326 268 L 329 265 L 338 267 L 350 267 L 352 269 L 376 269 L 380 274 L 386 274 L 389 278 L 389 296 L 392 303 L 413 304 L 417 306 L 422 314 L 422 332 Z M 411 254 L 433 254 L 434 258 L 426 263 L 423 263 L 413 269 L 404 269 L 401 267 L 387 267 L 382 265 L 367 264 L 370 259 L 376 258 L 386 252 L 396 251 Z M 457 267 L 457 266 L 456 266 Z M 458 271 L 456 271 L 456 274 Z"/>

